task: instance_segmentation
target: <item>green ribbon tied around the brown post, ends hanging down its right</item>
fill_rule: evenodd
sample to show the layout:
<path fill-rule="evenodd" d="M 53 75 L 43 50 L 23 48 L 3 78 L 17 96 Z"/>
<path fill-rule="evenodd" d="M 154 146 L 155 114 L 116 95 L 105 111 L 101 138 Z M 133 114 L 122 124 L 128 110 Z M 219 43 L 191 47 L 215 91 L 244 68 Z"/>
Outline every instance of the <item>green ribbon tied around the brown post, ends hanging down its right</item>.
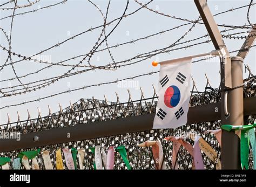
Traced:
<path fill-rule="evenodd" d="M 254 128 L 256 127 L 256 123 L 254 124 L 246 124 L 244 126 L 232 126 L 231 124 L 223 124 L 220 128 L 226 131 L 234 131 L 241 130 L 241 140 L 240 140 L 240 156 L 241 156 L 241 168 L 249 169 L 249 146 L 251 142 L 252 150 L 253 150 L 253 161 L 255 160 L 255 135 Z M 256 163 L 254 163 L 253 168 L 256 168 Z"/>

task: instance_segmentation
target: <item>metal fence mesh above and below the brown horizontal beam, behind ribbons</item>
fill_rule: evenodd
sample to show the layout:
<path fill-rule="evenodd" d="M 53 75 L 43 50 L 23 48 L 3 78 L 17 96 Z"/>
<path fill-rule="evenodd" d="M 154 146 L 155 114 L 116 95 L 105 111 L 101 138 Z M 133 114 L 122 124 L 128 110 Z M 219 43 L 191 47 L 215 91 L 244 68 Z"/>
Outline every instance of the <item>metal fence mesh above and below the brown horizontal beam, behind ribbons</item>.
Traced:
<path fill-rule="evenodd" d="M 245 79 L 244 81 L 247 81 Z M 244 96 L 252 97 L 255 96 L 256 85 L 255 81 L 248 82 L 244 87 Z M 193 91 L 192 91 L 193 92 Z M 193 94 L 191 96 L 191 106 L 205 105 L 208 103 L 220 102 L 220 92 L 217 89 L 205 89 L 203 93 Z M 120 117 L 129 117 L 133 115 L 143 115 L 148 113 L 154 113 L 156 111 L 157 96 L 154 93 L 152 98 L 144 99 L 142 98 L 138 101 L 129 101 L 126 103 L 117 102 L 107 102 L 95 99 L 80 99 L 77 103 L 73 104 L 71 107 L 65 108 L 57 113 L 49 114 L 49 116 L 41 117 L 38 116 L 37 119 L 26 121 L 18 121 L 16 123 L 1 126 L 1 130 L 5 131 L 21 131 L 22 133 L 31 133 L 33 131 L 46 130 L 51 128 L 62 128 L 67 126 L 75 126 L 79 123 L 85 123 L 84 125 L 90 125 L 89 123 L 104 121 L 104 120 L 114 120 Z M 254 123 L 255 116 L 251 115 L 248 118 L 247 123 Z M 88 124 L 86 124 L 88 123 Z M 127 151 L 127 157 L 130 161 L 132 169 L 154 169 L 154 161 L 152 156 L 151 148 L 138 147 L 138 144 L 146 140 L 159 140 L 163 144 L 164 149 L 164 160 L 166 162 L 166 168 L 172 168 L 172 142 L 165 141 L 164 137 L 167 136 L 180 136 L 187 133 L 196 133 L 201 135 L 204 140 L 210 144 L 210 146 L 217 152 L 218 157 L 221 160 L 221 149 L 218 141 L 214 135 L 204 134 L 207 129 L 218 129 L 220 128 L 220 121 L 209 121 L 203 123 L 190 124 L 187 126 L 182 126 L 177 129 L 153 129 L 147 131 L 141 131 L 137 133 L 127 133 L 117 136 L 100 137 L 93 138 L 91 140 L 81 140 L 76 142 L 55 144 L 51 146 L 40 147 L 42 151 L 49 150 L 50 157 L 52 161 L 53 168 L 56 169 L 56 153 L 55 150 L 59 148 L 85 148 L 85 158 L 83 161 L 84 169 L 93 169 L 94 155 L 89 150 L 89 147 L 95 147 L 96 145 L 106 150 L 110 146 L 120 146 L 124 145 Z M 193 145 L 193 140 L 186 139 L 187 142 Z M 17 157 L 18 153 L 26 150 L 15 150 L 1 153 L 1 156 L 11 157 L 13 160 Z M 63 154 L 63 153 L 62 153 Z M 206 169 L 215 169 L 215 163 L 213 163 L 204 153 L 202 153 L 203 161 Z M 64 155 L 62 155 L 63 163 L 65 168 Z M 38 164 L 41 169 L 44 168 L 43 158 L 41 153 L 37 156 Z M 115 153 L 115 164 L 114 169 L 125 169 L 125 164 L 119 153 Z M 253 167 L 252 160 L 252 149 L 250 147 L 250 169 Z M 31 161 L 30 161 L 31 162 Z M 78 158 L 77 158 L 78 163 Z M 178 153 L 177 164 L 179 169 L 192 169 L 192 158 L 191 155 L 181 146 Z M 11 166 L 12 167 L 12 166 Z M 78 167 L 79 168 L 79 167 Z M 23 168 L 24 169 L 24 168 Z"/>

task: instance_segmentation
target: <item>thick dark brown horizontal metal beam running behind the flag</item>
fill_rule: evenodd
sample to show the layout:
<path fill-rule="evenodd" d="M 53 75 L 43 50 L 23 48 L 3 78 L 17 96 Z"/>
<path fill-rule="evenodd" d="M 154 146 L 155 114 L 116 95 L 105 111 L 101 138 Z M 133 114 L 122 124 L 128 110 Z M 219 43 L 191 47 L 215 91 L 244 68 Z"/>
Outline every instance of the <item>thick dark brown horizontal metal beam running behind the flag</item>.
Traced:
<path fill-rule="evenodd" d="M 256 97 L 244 99 L 244 115 L 256 114 L 255 103 Z M 48 146 L 51 144 L 151 130 L 153 127 L 154 115 L 155 114 L 153 113 L 131 116 L 116 120 L 100 121 L 91 124 L 78 124 L 71 127 L 22 134 L 20 141 L 17 141 L 16 139 L 0 139 L 0 153 L 11 150 Z M 220 120 L 220 103 L 190 107 L 187 117 L 187 124 Z M 35 136 L 39 137 L 39 141 L 33 141 L 33 137 Z"/>

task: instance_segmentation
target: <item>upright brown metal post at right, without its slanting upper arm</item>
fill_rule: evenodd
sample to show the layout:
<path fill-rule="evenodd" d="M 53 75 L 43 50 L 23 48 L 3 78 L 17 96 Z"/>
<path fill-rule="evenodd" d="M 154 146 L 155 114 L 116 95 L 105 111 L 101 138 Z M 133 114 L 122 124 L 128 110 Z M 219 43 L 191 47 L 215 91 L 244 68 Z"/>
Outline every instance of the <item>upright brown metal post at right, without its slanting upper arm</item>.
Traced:
<path fill-rule="evenodd" d="M 232 88 L 243 83 L 242 66 L 243 59 L 241 57 L 231 57 L 231 76 Z M 230 116 L 225 116 L 221 112 L 221 124 L 232 124 L 234 126 L 244 124 L 244 96 L 243 88 L 239 87 L 228 91 L 227 109 Z M 224 92 L 221 93 L 221 103 L 223 104 Z M 223 110 L 224 107 L 221 107 Z M 236 134 L 235 134 L 236 133 Z M 222 131 L 221 135 L 221 164 L 222 169 L 241 169 L 240 163 L 240 138 L 239 131 L 227 132 Z"/>

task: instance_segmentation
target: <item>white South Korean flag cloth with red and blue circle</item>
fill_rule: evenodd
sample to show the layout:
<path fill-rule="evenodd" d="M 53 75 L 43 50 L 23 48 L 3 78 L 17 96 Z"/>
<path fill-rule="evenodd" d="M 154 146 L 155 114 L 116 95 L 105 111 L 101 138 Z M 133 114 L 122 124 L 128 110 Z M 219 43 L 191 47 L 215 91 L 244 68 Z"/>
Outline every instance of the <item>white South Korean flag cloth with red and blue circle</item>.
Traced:
<path fill-rule="evenodd" d="M 187 123 L 191 60 L 160 65 L 159 98 L 153 129 L 177 128 Z"/>

